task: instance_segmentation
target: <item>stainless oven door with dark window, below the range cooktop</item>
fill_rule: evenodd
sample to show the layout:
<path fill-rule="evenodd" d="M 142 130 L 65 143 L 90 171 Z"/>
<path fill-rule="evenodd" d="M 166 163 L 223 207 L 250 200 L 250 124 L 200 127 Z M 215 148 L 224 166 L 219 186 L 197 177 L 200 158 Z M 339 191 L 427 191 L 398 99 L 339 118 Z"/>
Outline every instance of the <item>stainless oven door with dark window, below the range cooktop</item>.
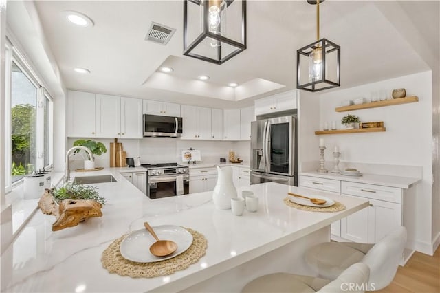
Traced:
<path fill-rule="evenodd" d="M 148 177 L 147 195 L 151 199 L 187 195 L 189 191 L 189 175 Z"/>

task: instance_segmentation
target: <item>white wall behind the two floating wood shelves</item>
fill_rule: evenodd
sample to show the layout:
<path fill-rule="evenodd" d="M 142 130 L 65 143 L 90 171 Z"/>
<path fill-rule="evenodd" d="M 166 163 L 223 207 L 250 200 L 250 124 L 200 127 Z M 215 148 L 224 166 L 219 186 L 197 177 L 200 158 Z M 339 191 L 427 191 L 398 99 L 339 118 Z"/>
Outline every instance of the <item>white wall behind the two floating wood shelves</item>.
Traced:
<path fill-rule="evenodd" d="M 338 113 L 335 108 L 343 100 L 369 98 L 371 92 L 385 89 L 391 96 L 392 89 L 406 88 L 407 96 L 418 96 L 419 102 L 347 111 Z M 317 95 L 319 93 L 316 93 Z M 303 94 L 302 94 L 303 95 Z M 340 146 L 341 160 L 380 165 L 421 166 L 423 181 L 417 188 L 417 206 L 415 225 L 417 227 L 415 248 L 426 253 L 432 246 L 432 73 L 421 72 L 401 76 L 378 83 L 369 83 L 359 87 L 340 89 L 319 94 L 319 110 L 313 98 L 301 96 L 300 115 L 303 131 L 300 141 L 301 162 L 318 161 L 318 137 L 324 138 L 327 149 L 325 158 L 332 160 L 333 147 Z M 319 122 L 316 121 L 319 113 Z M 360 117 L 362 122 L 384 121 L 386 132 L 351 133 L 337 135 L 314 135 L 309 124 L 322 129 L 324 122 L 338 121 L 338 129 L 342 128 L 340 120 L 348 113 Z M 308 133 L 304 131 L 307 129 Z M 314 145 L 310 145 L 314 144 Z M 393 175 L 393 174 L 389 174 Z"/>

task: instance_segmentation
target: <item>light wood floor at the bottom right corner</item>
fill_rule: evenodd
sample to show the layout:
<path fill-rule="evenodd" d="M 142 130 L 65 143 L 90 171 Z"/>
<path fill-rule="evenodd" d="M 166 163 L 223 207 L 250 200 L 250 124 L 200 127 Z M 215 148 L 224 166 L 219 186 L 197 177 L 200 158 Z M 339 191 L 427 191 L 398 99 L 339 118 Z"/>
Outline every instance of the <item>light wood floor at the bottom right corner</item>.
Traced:
<path fill-rule="evenodd" d="M 377 292 L 440 292 L 440 247 L 433 257 L 415 252 L 388 287 Z"/>

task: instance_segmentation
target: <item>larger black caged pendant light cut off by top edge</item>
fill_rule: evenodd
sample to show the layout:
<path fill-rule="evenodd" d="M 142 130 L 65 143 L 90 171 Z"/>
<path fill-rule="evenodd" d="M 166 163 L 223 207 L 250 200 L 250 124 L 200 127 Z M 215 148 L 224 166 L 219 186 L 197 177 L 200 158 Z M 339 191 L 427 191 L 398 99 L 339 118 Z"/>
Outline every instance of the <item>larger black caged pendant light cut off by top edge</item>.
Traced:
<path fill-rule="evenodd" d="M 245 49 L 246 0 L 184 0 L 184 55 L 221 65 Z"/>

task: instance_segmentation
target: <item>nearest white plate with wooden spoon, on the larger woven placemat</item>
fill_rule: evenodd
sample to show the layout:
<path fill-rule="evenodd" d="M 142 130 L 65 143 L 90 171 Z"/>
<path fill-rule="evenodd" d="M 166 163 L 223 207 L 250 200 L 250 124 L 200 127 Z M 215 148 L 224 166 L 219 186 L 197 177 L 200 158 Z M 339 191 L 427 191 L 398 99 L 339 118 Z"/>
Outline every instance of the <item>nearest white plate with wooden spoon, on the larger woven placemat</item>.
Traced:
<path fill-rule="evenodd" d="M 192 244 L 192 235 L 185 228 L 175 225 L 152 227 L 161 240 L 172 240 L 177 243 L 177 250 L 167 257 L 156 257 L 150 252 L 151 244 L 155 243 L 153 236 L 146 230 L 140 229 L 126 235 L 120 245 L 120 252 L 124 259 L 136 263 L 154 263 L 177 257 L 185 252 Z"/>

